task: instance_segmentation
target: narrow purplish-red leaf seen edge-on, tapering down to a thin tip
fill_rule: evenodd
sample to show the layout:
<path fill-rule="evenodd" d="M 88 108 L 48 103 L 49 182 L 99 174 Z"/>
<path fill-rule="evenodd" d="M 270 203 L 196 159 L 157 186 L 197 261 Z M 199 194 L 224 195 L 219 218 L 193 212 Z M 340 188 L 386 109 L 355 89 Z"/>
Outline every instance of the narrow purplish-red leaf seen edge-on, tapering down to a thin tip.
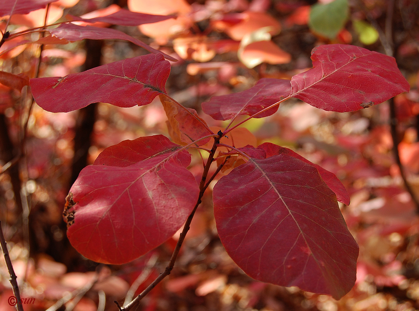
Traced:
<path fill-rule="evenodd" d="M 146 49 L 155 54 L 163 54 L 165 58 L 172 61 L 177 61 L 176 58 L 173 58 L 159 50 L 153 49 L 144 42 L 129 36 L 122 31 L 111 29 L 111 28 L 101 28 L 93 26 L 78 26 L 72 23 L 61 24 L 57 28 L 48 29 L 48 31 L 59 39 L 66 39 L 68 41 L 74 42 L 83 39 L 94 39 L 94 40 L 103 40 L 103 39 L 120 39 L 132 42 L 139 47 Z"/>

